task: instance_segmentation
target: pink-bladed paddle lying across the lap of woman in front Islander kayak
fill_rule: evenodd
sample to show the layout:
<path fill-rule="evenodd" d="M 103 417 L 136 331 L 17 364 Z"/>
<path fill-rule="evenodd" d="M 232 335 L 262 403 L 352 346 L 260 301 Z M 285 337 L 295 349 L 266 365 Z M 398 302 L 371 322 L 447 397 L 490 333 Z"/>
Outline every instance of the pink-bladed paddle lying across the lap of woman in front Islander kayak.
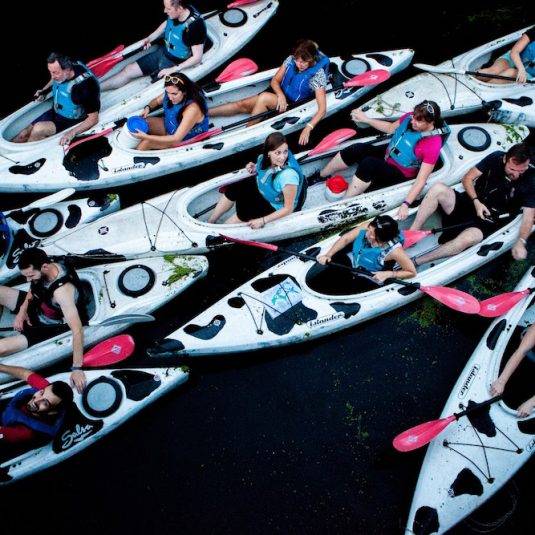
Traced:
<path fill-rule="evenodd" d="M 250 245 L 252 247 L 259 247 L 261 249 L 267 249 L 269 251 L 275 252 L 279 251 L 282 253 L 297 256 L 298 258 L 303 258 L 305 260 L 312 260 L 313 262 L 318 262 L 318 259 L 315 256 L 291 251 L 288 249 L 283 249 L 282 247 L 271 243 L 240 240 L 238 238 L 232 238 L 223 234 L 220 234 L 220 236 L 227 241 L 239 243 L 241 245 Z M 352 268 L 344 264 L 339 264 L 337 262 L 329 262 L 326 265 L 339 267 L 341 269 L 347 269 L 349 271 L 352 271 L 353 273 L 360 273 L 362 275 L 365 275 L 367 278 L 371 278 L 373 276 L 371 272 L 365 269 Z M 433 299 L 436 299 L 443 305 L 446 305 L 447 307 L 453 310 L 457 310 L 458 312 L 463 312 L 465 314 L 477 314 L 477 312 L 479 312 L 479 301 L 475 297 L 471 296 L 470 294 L 467 294 L 466 292 L 462 292 L 461 290 L 457 290 L 455 288 L 447 288 L 445 286 L 421 286 L 419 283 L 416 282 L 407 282 L 396 278 L 390 278 L 387 280 L 396 284 L 401 284 L 402 286 L 408 286 L 411 288 L 415 288 L 416 290 L 420 290 L 421 292 L 429 295 Z"/>

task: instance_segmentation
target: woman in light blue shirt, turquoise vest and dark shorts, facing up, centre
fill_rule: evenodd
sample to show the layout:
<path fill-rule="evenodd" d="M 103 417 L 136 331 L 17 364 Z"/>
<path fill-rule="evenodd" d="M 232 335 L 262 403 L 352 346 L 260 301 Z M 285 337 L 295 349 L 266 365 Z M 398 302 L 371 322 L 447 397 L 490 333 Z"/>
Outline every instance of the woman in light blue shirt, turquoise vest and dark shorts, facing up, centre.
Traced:
<path fill-rule="evenodd" d="M 256 173 L 256 177 L 226 186 L 209 223 L 216 223 L 236 205 L 236 214 L 225 223 L 247 222 L 252 229 L 259 229 L 302 207 L 305 178 L 283 134 L 270 134 L 256 164 L 249 162 L 246 169 L 251 175 Z"/>

